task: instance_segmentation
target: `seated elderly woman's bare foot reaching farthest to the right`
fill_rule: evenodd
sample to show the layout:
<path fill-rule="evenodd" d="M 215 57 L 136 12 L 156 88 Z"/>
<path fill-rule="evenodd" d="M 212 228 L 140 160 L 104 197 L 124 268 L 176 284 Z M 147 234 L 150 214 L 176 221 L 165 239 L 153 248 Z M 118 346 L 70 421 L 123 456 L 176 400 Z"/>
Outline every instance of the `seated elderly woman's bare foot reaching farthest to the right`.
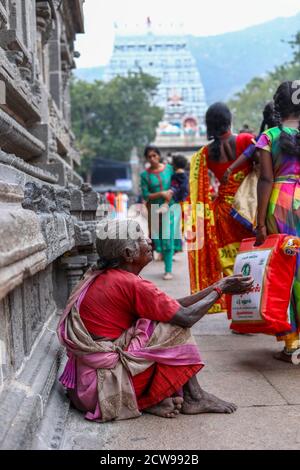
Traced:
<path fill-rule="evenodd" d="M 181 412 L 186 415 L 200 413 L 234 413 L 237 406 L 202 390 L 201 395 L 192 397 L 189 394 L 184 396 Z"/>

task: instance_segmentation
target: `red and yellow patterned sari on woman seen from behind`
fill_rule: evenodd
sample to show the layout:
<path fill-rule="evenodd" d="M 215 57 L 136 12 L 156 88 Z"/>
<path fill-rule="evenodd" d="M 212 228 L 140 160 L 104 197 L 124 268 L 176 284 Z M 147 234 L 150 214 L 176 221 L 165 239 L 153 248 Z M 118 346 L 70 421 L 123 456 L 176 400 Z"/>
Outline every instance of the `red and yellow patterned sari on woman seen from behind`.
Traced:
<path fill-rule="evenodd" d="M 236 158 L 252 143 L 251 134 L 236 137 Z M 208 170 L 221 180 L 232 162 L 218 163 L 208 158 L 208 146 L 197 152 L 191 162 L 190 204 L 192 208 L 191 225 L 193 232 L 201 233 L 195 249 L 189 249 L 189 270 L 192 293 L 220 280 L 223 275 L 233 272 L 236 254 L 241 241 L 250 238 L 252 233 L 245 229 L 230 215 L 234 196 L 251 170 L 245 164 L 233 172 L 226 185 L 221 184 L 216 200 L 213 202 L 209 191 Z M 188 237 L 192 238 L 192 237 Z M 226 310 L 225 299 L 221 299 L 212 312 Z"/>

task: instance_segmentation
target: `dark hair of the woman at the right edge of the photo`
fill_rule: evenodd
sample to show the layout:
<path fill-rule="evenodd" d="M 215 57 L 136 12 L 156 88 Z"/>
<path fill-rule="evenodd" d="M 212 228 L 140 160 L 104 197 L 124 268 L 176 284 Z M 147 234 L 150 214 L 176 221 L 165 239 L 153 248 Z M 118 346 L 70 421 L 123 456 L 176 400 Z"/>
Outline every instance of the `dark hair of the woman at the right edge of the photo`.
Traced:
<path fill-rule="evenodd" d="M 274 95 L 275 118 L 280 128 L 280 148 L 286 155 L 300 158 L 300 132 L 290 135 L 283 130 L 282 123 L 285 119 L 294 117 L 300 120 L 300 85 L 297 82 L 283 82 Z M 300 128 L 299 128 L 300 130 Z"/>

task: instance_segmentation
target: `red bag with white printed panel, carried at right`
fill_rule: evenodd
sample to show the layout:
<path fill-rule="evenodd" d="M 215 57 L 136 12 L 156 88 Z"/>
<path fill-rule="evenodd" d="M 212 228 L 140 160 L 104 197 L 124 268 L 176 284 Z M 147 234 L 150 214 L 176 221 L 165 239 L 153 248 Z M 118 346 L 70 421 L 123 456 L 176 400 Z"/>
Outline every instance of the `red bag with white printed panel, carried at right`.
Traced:
<path fill-rule="evenodd" d="M 234 274 L 252 276 L 254 285 L 251 292 L 228 298 L 231 329 L 270 335 L 288 332 L 299 239 L 270 235 L 263 245 L 254 244 L 255 238 L 243 240 L 236 258 Z"/>

